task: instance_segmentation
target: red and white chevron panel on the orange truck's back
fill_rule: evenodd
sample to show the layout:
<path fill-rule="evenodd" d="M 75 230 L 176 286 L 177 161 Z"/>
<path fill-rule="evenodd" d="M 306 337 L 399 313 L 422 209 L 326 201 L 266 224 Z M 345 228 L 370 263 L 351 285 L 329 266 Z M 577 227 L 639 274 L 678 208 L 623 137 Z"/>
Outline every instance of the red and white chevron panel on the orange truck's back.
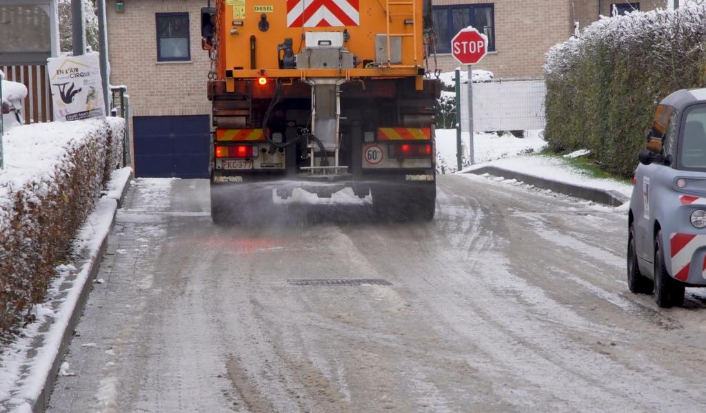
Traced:
<path fill-rule="evenodd" d="M 360 0 L 287 0 L 287 27 L 360 25 Z"/>

